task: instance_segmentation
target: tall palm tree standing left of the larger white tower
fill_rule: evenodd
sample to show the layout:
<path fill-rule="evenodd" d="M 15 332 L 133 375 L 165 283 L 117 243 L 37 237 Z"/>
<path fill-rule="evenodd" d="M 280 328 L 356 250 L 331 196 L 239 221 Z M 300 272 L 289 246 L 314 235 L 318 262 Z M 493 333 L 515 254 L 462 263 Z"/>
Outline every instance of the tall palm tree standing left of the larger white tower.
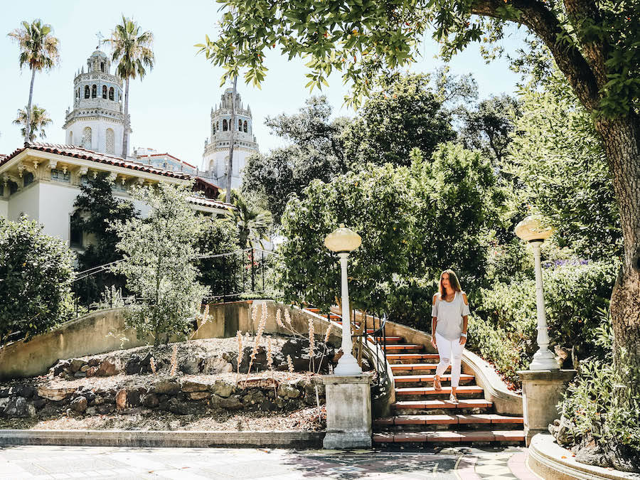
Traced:
<path fill-rule="evenodd" d="M 42 23 L 40 18 L 28 23 L 22 22 L 22 28 L 16 28 L 9 36 L 18 42 L 20 47 L 20 68 L 28 65 L 31 69 L 31 85 L 29 86 L 29 101 L 26 107 L 26 115 L 31 117 L 31 101 L 33 100 L 33 80 L 36 80 L 36 71 L 49 70 L 60 60 L 58 53 L 58 38 L 53 36 L 53 28 L 48 23 Z M 31 139 L 31 122 L 25 122 L 25 139 Z"/>

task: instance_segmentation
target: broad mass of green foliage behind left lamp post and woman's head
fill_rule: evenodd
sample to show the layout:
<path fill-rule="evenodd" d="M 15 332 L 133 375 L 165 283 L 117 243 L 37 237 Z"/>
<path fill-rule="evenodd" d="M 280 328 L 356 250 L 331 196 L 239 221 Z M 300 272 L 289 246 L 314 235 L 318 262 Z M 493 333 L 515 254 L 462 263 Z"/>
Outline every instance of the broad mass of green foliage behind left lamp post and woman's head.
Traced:
<path fill-rule="evenodd" d="M 466 286 L 481 279 L 487 237 L 481 232 L 498 221 L 493 202 L 501 198 L 489 162 L 456 144 L 440 146 L 430 162 L 417 149 L 410 156 L 411 168 L 367 165 L 331 183 L 313 181 L 302 198 L 289 201 L 279 250 L 289 301 L 334 303 L 339 270 L 323 242 L 340 223 L 363 238 L 349 266 L 357 308 L 415 322 L 444 268 L 457 269 Z"/>

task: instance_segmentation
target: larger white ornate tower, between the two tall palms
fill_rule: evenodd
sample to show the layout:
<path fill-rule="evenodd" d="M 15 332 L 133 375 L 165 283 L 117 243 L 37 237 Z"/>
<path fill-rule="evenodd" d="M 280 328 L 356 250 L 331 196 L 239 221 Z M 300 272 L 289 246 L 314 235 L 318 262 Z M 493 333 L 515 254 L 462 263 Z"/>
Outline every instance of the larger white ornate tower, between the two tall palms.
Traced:
<path fill-rule="evenodd" d="M 122 78 L 112 75 L 111 61 L 97 48 L 73 80 L 73 110 L 65 117 L 65 143 L 101 154 L 122 154 L 124 113 Z M 131 132 L 131 129 L 129 129 Z"/>

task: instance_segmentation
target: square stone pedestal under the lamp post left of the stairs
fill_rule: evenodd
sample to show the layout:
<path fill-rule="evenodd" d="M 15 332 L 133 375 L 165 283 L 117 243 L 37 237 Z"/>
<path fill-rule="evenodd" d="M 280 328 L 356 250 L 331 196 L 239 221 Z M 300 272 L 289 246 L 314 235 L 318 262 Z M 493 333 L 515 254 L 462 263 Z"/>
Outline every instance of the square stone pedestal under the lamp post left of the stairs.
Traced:
<path fill-rule="evenodd" d="M 371 447 L 371 376 L 324 375 L 326 449 Z"/>

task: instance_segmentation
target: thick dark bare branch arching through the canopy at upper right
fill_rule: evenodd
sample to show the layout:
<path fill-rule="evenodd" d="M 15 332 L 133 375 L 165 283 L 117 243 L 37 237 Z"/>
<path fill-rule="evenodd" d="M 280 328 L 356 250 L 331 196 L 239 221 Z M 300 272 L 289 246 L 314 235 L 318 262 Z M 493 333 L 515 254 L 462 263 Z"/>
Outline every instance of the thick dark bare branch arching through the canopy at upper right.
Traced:
<path fill-rule="evenodd" d="M 577 46 L 559 40 L 567 38 L 569 33 L 562 28 L 553 12 L 536 0 L 513 0 L 511 5 L 521 11 L 522 15 L 504 18 L 503 14 L 498 13 L 503 5 L 503 0 L 479 0 L 471 6 L 471 13 L 528 26 L 551 50 L 555 63 L 567 77 L 582 105 L 590 112 L 596 109 L 599 104 L 596 75 Z"/>

